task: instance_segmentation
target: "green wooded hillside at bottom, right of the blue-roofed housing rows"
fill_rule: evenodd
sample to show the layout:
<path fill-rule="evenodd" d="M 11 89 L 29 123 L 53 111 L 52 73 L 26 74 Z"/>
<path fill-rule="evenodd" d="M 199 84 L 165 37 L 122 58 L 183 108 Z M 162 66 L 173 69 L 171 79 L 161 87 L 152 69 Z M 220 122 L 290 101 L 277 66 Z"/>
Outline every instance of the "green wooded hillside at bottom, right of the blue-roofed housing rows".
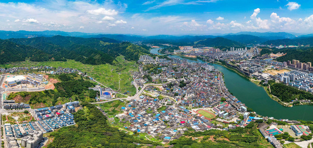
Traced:
<path fill-rule="evenodd" d="M 83 110 L 74 114 L 77 126 L 62 127 L 47 148 L 135 148 L 139 144 L 158 143 L 139 140 L 107 125 L 106 117 L 94 105 L 82 103 Z M 140 145 L 142 146 L 142 145 Z"/>

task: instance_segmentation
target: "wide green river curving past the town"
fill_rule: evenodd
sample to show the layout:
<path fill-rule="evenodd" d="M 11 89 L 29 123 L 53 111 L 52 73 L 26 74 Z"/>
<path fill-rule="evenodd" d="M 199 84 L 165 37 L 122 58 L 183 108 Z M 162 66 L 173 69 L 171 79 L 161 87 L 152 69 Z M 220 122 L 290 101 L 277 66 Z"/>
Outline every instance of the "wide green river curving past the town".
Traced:
<path fill-rule="evenodd" d="M 159 54 L 160 48 L 151 49 L 151 53 Z M 184 59 L 179 56 L 169 55 L 172 58 Z M 188 62 L 204 63 L 197 59 L 197 61 L 187 60 Z M 311 120 L 313 121 L 313 106 L 302 105 L 293 106 L 292 108 L 284 107 L 272 100 L 263 87 L 256 85 L 248 79 L 228 70 L 227 68 L 213 64 L 213 66 L 224 74 L 225 85 L 228 90 L 247 107 L 252 108 L 258 114 L 275 119 L 289 119 L 289 120 Z"/>

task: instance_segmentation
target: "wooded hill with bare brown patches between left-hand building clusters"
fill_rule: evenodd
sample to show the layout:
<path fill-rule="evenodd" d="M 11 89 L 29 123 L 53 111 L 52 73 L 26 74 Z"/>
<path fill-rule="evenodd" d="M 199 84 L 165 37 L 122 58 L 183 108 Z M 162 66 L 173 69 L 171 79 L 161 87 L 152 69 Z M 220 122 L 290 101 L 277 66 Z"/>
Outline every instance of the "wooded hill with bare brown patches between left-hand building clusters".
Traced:
<path fill-rule="evenodd" d="M 94 102 L 96 91 L 89 90 L 94 87 L 90 81 L 86 81 L 83 77 L 76 74 L 60 74 L 56 77 L 61 82 L 55 83 L 54 90 L 45 90 L 40 92 L 17 92 L 11 93 L 7 100 L 15 100 L 30 104 L 32 108 L 41 108 L 54 106 L 56 104 L 69 102 L 69 98 L 73 101 Z"/>

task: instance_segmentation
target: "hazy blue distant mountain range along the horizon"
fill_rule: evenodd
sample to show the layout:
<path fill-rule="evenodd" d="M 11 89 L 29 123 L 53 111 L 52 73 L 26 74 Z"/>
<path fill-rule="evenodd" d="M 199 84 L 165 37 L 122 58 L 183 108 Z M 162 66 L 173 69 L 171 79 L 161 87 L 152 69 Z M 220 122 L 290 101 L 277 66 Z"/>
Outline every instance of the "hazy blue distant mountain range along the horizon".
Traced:
<path fill-rule="evenodd" d="M 243 45 L 311 45 L 313 34 L 295 36 L 290 33 L 258 33 L 258 32 L 239 32 L 224 34 L 222 36 L 172 36 L 172 35 L 158 35 L 158 36 L 137 36 L 137 35 L 121 35 L 121 34 L 95 34 L 95 33 L 81 33 L 81 32 L 62 32 L 62 31 L 0 31 L 0 39 L 8 38 L 34 38 L 34 37 L 80 37 L 80 38 L 111 38 L 114 43 L 116 41 L 142 42 L 150 44 L 172 44 L 177 46 L 183 45 L 199 45 L 207 46 L 243 46 Z M 211 39 L 210 39 L 211 38 Z M 212 39 L 217 38 L 217 39 Z M 224 39 L 222 39 L 224 38 Z M 99 40 L 99 39 L 96 39 Z M 109 42 L 111 42 L 109 41 Z M 224 42 L 223 42 L 224 41 Z"/>

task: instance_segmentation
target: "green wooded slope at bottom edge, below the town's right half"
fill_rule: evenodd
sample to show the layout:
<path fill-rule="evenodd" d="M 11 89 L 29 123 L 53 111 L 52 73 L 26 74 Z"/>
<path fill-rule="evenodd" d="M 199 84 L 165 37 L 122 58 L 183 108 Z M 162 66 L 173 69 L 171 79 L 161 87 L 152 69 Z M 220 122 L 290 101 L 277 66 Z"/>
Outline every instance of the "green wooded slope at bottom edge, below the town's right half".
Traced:
<path fill-rule="evenodd" d="M 237 127 L 228 131 L 207 130 L 204 132 L 186 132 L 186 137 L 173 140 L 170 144 L 177 148 L 191 146 L 191 148 L 257 148 L 270 147 L 257 129 L 257 123 L 251 122 L 246 128 Z M 200 142 L 189 137 L 203 137 Z M 212 141 L 212 138 L 214 141 Z"/>

